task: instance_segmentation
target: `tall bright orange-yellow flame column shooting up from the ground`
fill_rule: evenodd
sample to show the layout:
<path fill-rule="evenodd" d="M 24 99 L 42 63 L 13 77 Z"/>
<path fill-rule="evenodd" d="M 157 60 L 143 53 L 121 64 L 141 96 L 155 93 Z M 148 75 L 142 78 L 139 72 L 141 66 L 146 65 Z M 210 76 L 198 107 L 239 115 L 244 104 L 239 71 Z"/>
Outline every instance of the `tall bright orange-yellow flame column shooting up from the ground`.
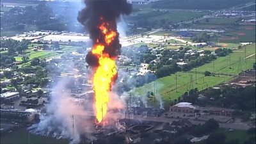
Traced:
<path fill-rule="evenodd" d="M 102 17 L 100 19 L 103 20 Z M 109 24 L 107 22 L 102 22 L 99 26 L 101 33 L 104 34 L 106 45 L 111 44 L 116 36 L 116 32 L 109 29 L 108 26 Z M 111 83 L 113 77 L 117 74 L 115 58 L 109 58 L 108 54 L 104 54 L 103 51 L 105 48 L 104 44 L 99 44 L 99 39 L 97 39 L 97 44 L 93 45 L 92 49 L 92 53 L 99 58 L 99 67 L 96 68 L 93 76 L 96 118 L 99 123 L 102 122 L 107 113 Z"/>

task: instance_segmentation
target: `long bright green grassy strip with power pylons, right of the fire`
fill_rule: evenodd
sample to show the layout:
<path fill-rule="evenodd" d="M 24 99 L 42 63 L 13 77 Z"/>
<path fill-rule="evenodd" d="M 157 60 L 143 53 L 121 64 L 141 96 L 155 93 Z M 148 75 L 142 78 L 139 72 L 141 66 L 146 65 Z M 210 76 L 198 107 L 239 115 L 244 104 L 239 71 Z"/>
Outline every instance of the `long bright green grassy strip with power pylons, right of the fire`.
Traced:
<path fill-rule="evenodd" d="M 255 54 L 255 44 L 246 46 L 246 56 Z M 241 57 L 240 67 L 239 66 L 239 57 Z M 253 57 L 253 56 L 252 56 Z M 191 88 L 198 88 L 198 90 L 204 90 L 207 87 L 212 87 L 216 84 L 230 81 L 232 76 L 227 76 L 225 74 L 238 74 L 242 70 L 252 68 L 253 63 L 255 62 L 255 55 L 253 58 L 248 58 L 245 62 L 244 58 L 244 48 L 239 49 L 239 51 L 234 51 L 230 54 L 230 61 L 232 63 L 229 68 L 229 56 L 221 57 L 215 60 L 214 62 L 207 63 L 201 67 L 197 67 L 195 74 L 195 68 L 189 72 L 177 72 L 171 76 L 162 77 L 157 79 L 152 83 L 145 84 L 139 88 L 134 88 L 131 90 L 133 95 L 145 96 L 145 93 L 148 91 L 154 92 L 154 85 L 156 85 L 156 91 L 165 102 L 165 106 L 170 104 L 171 100 L 177 99 L 184 92 L 187 92 Z M 203 72 L 209 70 L 213 72 L 213 63 L 214 63 L 214 72 L 217 73 L 215 76 L 205 77 Z M 219 73 L 219 74 L 218 74 Z M 177 92 L 175 78 L 177 75 Z"/>

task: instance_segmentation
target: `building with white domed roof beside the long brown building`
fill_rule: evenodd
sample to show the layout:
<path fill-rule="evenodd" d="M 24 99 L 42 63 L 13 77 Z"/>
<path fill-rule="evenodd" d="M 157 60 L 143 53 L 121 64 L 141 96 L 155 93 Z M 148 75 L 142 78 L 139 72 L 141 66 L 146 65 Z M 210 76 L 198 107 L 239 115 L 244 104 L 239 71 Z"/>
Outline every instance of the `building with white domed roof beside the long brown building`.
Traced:
<path fill-rule="evenodd" d="M 170 111 L 185 112 L 185 113 L 194 113 L 195 109 L 196 107 L 189 102 L 179 102 L 174 106 L 170 106 Z"/>

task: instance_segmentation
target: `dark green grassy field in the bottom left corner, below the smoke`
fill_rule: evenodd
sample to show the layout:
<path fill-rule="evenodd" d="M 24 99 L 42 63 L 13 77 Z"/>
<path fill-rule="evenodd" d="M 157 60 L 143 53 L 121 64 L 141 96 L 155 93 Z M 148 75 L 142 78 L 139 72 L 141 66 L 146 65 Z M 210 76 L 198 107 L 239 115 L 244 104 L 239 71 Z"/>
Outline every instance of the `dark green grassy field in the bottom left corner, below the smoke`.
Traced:
<path fill-rule="evenodd" d="M 29 140 L 29 141 L 28 141 Z M 68 143 L 68 140 L 56 140 L 55 138 L 48 138 L 44 136 L 38 136 L 35 134 L 29 134 L 26 128 L 19 129 L 17 131 L 10 132 L 8 134 L 1 135 L 1 144 L 52 144 L 52 143 Z"/>

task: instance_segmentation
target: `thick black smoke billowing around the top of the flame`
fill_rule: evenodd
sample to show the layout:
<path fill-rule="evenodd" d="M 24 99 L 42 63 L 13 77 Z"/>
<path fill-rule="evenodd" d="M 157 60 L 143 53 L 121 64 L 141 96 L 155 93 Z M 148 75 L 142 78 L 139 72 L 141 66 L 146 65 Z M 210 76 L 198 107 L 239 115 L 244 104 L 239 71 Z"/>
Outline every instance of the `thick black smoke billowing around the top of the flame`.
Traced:
<path fill-rule="evenodd" d="M 105 45 L 103 52 L 109 54 L 111 58 L 116 58 L 120 54 L 121 48 L 116 21 L 120 15 L 129 15 L 132 11 L 132 5 L 127 3 L 127 0 L 84 0 L 84 3 L 86 7 L 78 13 L 77 20 L 90 33 L 93 45 L 97 44 L 97 39 L 99 39 L 99 44 Z M 104 22 L 108 22 L 111 30 L 116 31 L 115 40 L 108 46 L 104 42 L 104 35 L 100 33 L 101 18 Z M 92 67 L 99 65 L 97 56 L 93 56 L 92 52 L 88 52 L 86 62 Z"/>

